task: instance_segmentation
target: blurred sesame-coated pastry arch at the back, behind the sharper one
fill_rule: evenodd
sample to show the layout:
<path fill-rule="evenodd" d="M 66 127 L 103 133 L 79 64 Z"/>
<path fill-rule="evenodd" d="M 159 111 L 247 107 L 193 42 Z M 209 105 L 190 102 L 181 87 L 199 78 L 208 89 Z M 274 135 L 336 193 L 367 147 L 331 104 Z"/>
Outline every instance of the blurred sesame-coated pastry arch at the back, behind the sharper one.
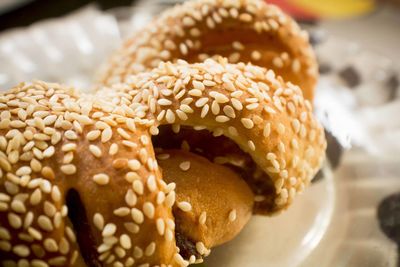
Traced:
<path fill-rule="evenodd" d="M 123 43 L 99 81 L 117 83 L 160 61 L 194 63 L 216 55 L 272 69 L 313 99 L 318 68 L 307 32 L 261 0 L 195 0 L 168 9 Z"/>

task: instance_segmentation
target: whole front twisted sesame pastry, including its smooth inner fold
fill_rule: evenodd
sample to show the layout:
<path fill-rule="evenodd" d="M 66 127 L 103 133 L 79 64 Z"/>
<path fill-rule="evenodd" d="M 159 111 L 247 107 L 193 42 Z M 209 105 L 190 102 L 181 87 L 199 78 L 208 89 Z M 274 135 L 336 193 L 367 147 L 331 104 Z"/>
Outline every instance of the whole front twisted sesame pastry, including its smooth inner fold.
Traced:
<path fill-rule="evenodd" d="M 4 266 L 187 266 L 233 238 L 253 206 L 237 175 L 195 153 L 226 160 L 258 213 L 286 208 L 323 160 L 310 103 L 272 71 L 179 61 L 127 81 L 94 97 L 43 82 L 0 96 Z M 188 152 L 165 145 L 178 125 Z M 150 134 L 159 157 L 173 155 L 164 179 L 180 191 L 162 178 Z M 170 177 L 179 157 L 188 180 Z"/>

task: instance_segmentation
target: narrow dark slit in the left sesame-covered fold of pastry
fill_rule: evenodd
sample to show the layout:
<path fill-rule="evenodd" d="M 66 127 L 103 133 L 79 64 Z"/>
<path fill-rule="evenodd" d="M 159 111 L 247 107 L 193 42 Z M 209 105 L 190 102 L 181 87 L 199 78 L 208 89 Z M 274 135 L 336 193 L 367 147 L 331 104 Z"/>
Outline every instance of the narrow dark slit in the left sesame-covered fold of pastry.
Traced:
<path fill-rule="evenodd" d="M 90 225 L 86 216 L 86 210 L 83 206 L 79 193 L 71 189 L 66 197 L 68 207 L 68 217 L 74 227 L 75 235 L 78 241 L 81 255 L 88 267 L 101 267 L 98 261 L 96 242 L 90 231 Z"/>

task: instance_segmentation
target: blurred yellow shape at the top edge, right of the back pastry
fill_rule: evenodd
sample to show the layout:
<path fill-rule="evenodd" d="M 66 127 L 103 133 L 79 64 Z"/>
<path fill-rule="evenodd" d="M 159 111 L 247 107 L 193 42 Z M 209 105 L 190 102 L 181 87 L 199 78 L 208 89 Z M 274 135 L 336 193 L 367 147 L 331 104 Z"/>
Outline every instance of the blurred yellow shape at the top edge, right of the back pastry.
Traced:
<path fill-rule="evenodd" d="M 289 3 L 320 18 L 341 19 L 359 16 L 375 8 L 374 0 L 288 0 Z"/>

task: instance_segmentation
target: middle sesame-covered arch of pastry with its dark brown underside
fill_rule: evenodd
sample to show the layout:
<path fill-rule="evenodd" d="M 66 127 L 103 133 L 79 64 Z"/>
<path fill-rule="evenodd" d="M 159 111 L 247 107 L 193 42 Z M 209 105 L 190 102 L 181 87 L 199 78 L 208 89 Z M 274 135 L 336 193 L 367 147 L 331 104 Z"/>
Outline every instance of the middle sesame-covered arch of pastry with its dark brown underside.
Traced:
<path fill-rule="evenodd" d="M 98 91 L 99 105 L 154 120 L 156 147 L 186 147 L 232 167 L 253 190 L 255 213 L 288 207 L 323 162 L 326 141 L 310 102 L 272 70 L 178 60 L 113 88 Z"/>

